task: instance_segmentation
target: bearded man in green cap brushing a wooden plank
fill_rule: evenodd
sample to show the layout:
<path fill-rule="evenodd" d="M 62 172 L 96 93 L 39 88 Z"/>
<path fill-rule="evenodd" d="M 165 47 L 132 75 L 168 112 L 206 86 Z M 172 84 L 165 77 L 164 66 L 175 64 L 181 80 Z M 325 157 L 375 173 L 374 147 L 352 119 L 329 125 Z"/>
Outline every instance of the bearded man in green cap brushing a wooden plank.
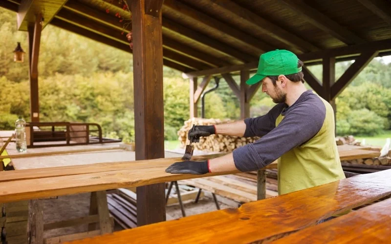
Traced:
<path fill-rule="evenodd" d="M 278 161 L 279 194 L 344 179 L 334 136 L 331 105 L 304 86 L 303 62 L 287 50 L 261 55 L 257 74 L 247 84 L 262 82 L 262 92 L 277 103 L 267 114 L 242 121 L 195 126 L 189 139 L 212 134 L 261 139 L 223 157 L 172 164 L 166 172 L 205 174 L 261 169 Z"/>

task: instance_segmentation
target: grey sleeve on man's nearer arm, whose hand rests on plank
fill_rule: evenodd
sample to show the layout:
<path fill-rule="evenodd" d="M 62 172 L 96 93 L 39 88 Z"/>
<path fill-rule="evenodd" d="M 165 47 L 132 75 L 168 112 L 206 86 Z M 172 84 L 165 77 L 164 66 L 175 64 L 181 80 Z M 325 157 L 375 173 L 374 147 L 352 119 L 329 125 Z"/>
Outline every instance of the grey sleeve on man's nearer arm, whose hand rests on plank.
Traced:
<path fill-rule="evenodd" d="M 235 166 L 242 172 L 265 167 L 314 137 L 322 128 L 325 118 L 326 106 L 323 103 L 292 107 L 282 122 L 261 139 L 233 151 Z"/>

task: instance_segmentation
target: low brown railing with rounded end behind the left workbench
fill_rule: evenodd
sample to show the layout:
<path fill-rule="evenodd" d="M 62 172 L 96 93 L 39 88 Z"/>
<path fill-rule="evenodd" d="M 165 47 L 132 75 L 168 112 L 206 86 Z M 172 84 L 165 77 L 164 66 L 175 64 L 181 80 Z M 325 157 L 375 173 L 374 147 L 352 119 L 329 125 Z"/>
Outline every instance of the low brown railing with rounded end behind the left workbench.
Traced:
<path fill-rule="evenodd" d="M 27 148 L 121 142 L 102 137 L 97 123 L 31 122 L 26 124 Z"/>

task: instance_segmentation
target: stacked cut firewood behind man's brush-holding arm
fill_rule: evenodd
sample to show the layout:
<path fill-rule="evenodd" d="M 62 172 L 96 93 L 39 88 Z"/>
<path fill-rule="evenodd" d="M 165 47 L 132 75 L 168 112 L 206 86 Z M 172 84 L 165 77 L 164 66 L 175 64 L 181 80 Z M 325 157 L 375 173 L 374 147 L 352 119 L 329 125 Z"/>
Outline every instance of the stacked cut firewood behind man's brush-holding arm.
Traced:
<path fill-rule="evenodd" d="M 232 120 L 219 120 L 219 119 L 202 119 L 202 118 L 192 118 L 184 122 L 182 128 L 178 131 L 179 142 L 181 142 L 181 147 L 186 147 L 189 144 L 187 138 L 188 131 L 195 125 L 214 125 L 221 123 L 233 122 Z M 258 140 L 258 137 L 254 138 L 244 138 L 236 136 L 223 136 L 223 135 L 211 135 L 209 137 L 201 137 L 199 142 L 193 143 L 194 148 L 202 151 L 209 152 L 232 152 L 234 149 L 244 146 L 248 143 L 255 142 Z"/>

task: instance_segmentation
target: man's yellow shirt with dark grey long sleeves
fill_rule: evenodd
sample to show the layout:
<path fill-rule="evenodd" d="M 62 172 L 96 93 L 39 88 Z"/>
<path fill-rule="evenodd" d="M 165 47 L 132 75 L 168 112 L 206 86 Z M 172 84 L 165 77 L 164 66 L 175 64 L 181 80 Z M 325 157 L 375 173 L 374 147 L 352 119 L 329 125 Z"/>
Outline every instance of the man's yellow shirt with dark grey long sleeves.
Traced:
<path fill-rule="evenodd" d="M 244 137 L 261 139 L 233 151 L 235 166 L 254 171 L 278 159 L 279 195 L 345 179 L 331 105 L 312 90 L 288 107 L 245 119 Z"/>

